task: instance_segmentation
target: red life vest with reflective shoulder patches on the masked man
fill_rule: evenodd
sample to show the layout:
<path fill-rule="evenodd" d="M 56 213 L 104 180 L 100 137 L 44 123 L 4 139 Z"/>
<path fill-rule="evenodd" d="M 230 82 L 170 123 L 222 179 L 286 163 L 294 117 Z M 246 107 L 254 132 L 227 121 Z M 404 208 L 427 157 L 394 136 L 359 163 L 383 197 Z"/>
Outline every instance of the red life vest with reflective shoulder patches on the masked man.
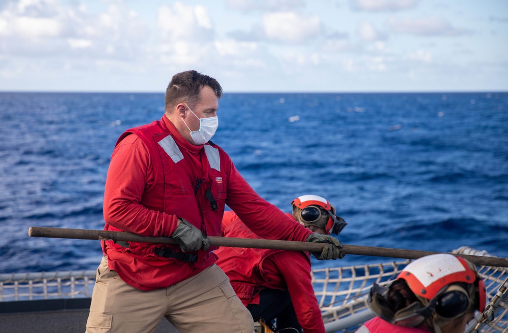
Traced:
<path fill-rule="evenodd" d="M 171 123 L 169 125 L 172 126 Z M 226 168 L 221 168 L 221 160 L 229 160 L 229 156 L 217 146 L 208 143 L 204 145 L 204 148 L 199 152 L 201 154 L 201 168 L 204 172 L 199 176 L 201 183 L 196 191 L 197 173 L 199 173 L 197 169 L 201 168 L 197 168 L 199 165 L 193 165 L 193 159 L 188 156 L 189 152 L 179 148 L 164 121 L 154 121 L 151 124 L 126 130 L 116 145 L 131 134 L 139 137 L 147 147 L 155 178 L 153 186 L 145 189 L 140 204 L 154 211 L 184 218 L 208 236 L 220 236 L 220 223 L 227 192 Z M 221 157 L 225 158 L 221 159 Z M 210 201 L 210 197 L 207 198 L 208 189 L 213 197 L 213 202 Z M 121 231 L 121 229 L 107 223 L 104 229 Z M 177 259 L 156 256 L 153 253 L 155 248 L 161 247 L 181 252 L 177 245 L 130 242 L 129 247 L 123 247 L 113 241 L 105 243 L 103 248 L 110 261 L 117 260 L 116 264 L 123 265 L 125 269 L 124 275 L 132 275 L 122 276 L 122 273 L 118 272 L 122 279 L 140 289 L 148 289 L 145 282 L 151 286 L 149 289 L 172 285 L 188 278 L 189 274 L 199 273 L 216 259 L 216 256 L 210 253 L 216 247 L 210 247 L 207 251 L 197 251 L 195 253 L 198 255 L 197 261 L 184 264 Z M 133 260 L 125 255 L 134 256 L 140 261 L 137 265 L 142 262 L 154 269 L 164 271 L 164 274 L 155 274 L 155 271 L 148 269 L 139 270 L 135 267 Z M 177 266 L 172 268 L 171 264 Z M 129 266 L 131 269 L 126 269 Z M 131 274 L 129 271 L 136 273 Z M 143 282 L 136 282 L 135 279 Z"/>

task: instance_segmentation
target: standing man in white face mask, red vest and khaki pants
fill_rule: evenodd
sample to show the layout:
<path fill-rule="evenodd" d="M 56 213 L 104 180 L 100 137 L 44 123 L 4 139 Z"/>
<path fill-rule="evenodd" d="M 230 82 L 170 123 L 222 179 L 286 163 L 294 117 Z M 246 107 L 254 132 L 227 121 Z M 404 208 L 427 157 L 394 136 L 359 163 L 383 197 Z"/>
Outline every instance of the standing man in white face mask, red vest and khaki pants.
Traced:
<path fill-rule="evenodd" d="M 105 230 L 172 237 L 178 245 L 103 241 L 87 332 L 150 332 L 163 317 L 187 333 L 253 332 L 250 313 L 214 264 L 225 205 L 268 239 L 342 245 L 312 233 L 262 199 L 211 137 L 222 88 L 196 71 L 173 76 L 161 120 L 116 142 L 104 191 Z M 289 231 L 289 232 L 288 232 Z"/>

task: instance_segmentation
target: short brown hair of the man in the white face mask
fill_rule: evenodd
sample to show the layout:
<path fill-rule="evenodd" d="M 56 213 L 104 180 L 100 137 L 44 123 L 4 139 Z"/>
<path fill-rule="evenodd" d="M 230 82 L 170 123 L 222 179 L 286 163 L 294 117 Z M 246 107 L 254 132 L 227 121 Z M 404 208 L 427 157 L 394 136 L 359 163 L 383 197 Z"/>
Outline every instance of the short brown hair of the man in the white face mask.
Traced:
<path fill-rule="evenodd" d="M 222 96 L 222 87 L 217 80 L 208 75 L 196 71 L 175 74 L 166 89 L 164 98 L 166 112 L 171 112 L 174 107 L 182 102 L 193 107 L 199 102 L 199 93 L 204 86 L 212 88 L 217 98 Z"/>

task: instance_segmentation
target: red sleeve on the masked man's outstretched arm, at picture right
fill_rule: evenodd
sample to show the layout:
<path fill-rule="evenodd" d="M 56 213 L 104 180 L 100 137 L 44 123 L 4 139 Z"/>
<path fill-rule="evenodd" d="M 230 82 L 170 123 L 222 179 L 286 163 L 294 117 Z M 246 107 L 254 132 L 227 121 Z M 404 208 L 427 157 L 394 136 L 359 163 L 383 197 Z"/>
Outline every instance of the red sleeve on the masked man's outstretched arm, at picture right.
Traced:
<path fill-rule="evenodd" d="M 286 216 L 260 197 L 236 170 L 231 158 L 220 150 L 221 168 L 228 174 L 226 204 L 256 235 L 265 239 L 303 242 L 312 231 Z"/>

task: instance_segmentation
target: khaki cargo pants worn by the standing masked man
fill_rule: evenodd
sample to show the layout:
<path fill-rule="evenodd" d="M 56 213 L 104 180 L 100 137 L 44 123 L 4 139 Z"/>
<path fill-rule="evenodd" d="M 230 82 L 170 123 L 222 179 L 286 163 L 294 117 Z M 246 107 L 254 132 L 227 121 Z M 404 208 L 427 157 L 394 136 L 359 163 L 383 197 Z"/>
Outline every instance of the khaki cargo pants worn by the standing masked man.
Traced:
<path fill-rule="evenodd" d="M 183 333 L 254 332 L 252 316 L 215 264 L 168 288 L 143 291 L 109 271 L 103 257 L 86 332 L 153 332 L 163 317 Z"/>

